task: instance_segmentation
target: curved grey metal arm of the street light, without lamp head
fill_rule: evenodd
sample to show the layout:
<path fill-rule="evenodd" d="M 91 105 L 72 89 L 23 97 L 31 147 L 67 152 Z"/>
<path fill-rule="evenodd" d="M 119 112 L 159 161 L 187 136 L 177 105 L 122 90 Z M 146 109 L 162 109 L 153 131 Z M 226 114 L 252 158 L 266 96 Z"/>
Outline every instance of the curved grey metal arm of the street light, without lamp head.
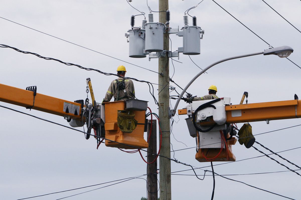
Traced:
<path fill-rule="evenodd" d="M 180 103 L 180 100 L 181 98 L 183 97 L 183 94 L 185 93 L 185 91 L 188 89 L 188 87 L 202 74 L 204 73 L 205 71 L 207 71 L 209 68 L 213 67 L 214 65 L 216 64 L 219 64 L 221 62 L 225 62 L 225 61 L 228 61 L 228 60 L 233 60 L 233 59 L 236 59 L 236 58 L 244 58 L 244 57 L 248 57 L 248 56 L 252 56 L 252 55 L 259 55 L 259 54 L 263 54 L 263 52 L 257 52 L 257 53 L 252 53 L 252 54 L 246 54 L 246 55 L 238 55 L 238 56 L 234 56 L 234 57 L 230 57 L 230 58 L 225 58 L 225 59 L 222 59 L 220 61 L 217 61 L 211 65 L 209 65 L 208 67 L 204 68 L 202 71 L 200 71 L 200 73 L 198 73 L 197 75 L 195 75 L 193 77 L 193 79 L 191 79 L 191 81 L 186 85 L 186 87 L 183 89 L 182 93 L 180 94 L 177 102 L 175 103 L 175 107 L 174 109 L 172 110 L 169 110 L 170 111 L 170 115 L 169 117 L 173 117 L 175 116 L 175 111 L 176 109 L 178 108 L 178 105 Z"/>

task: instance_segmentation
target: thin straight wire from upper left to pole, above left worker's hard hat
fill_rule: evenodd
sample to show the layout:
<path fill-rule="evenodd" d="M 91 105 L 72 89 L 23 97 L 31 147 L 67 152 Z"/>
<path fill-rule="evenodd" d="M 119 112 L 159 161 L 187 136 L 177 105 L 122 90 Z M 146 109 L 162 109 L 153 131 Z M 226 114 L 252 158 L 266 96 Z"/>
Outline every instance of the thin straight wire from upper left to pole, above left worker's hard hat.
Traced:
<path fill-rule="evenodd" d="M 99 54 L 101 54 L 101 55 L 104 55 L 104 56 L 107 56 L 107 57 L 110 57 L 110 58 L 113 58 L 113 59 L 116 59 L 116 60 L 119 60 L 119 61 L 125 62 L 125 63 L 127 63 L 127 64 L 131 64 L 131 65 L 133 65 L 133 66 L 140 67 L 140 68 L 142 68 L 142 69 L 145 69 L 145 70 L 148 70 L 148 71 L 151 71 L 151 72 L 154 72 L 154 73 L 158 73 L 158 72 L 156 72 L 156 71 L 153 71 L 153 70 L 147 69 L 147 68 L 145 68 L 145 67 L 141 67 L 141 66 L 139 66 L 139 65 L 136 65 L 136 64 L 130 63 L 130 62 L 128 62 L 128 61 L 121 60 L 121 59 L 119 59 L 119 58 L 116 58 L 116 57 L 114 57 L 114 56 L 107 55 L 107 54 L 105 54 L 105 53 L 101 53 L 101 52 L 99 52 L 99 51 L 96 51 L 96 50 L 90 49 L 90 48 L 88 48 L 88 47 L 85 47 L 85 46 L 82 46 L 82 45 L 79 45 L 79 44 L 76 44 L 76 43 L 70 42 L 70 41 L 68 41 L 68 40 L 64 40 L 64 39 L 62 39 L 62 38 L 60 38 L 60 37 L 56 37 L 56 36 L 54 36 L 54 35 L 51 35 L 51 34 L 48 34 L 48 33 L 42 32 L 42 31 L 39 31 L 39 30 L 37 30 L 37 29 L 30 28 L 29 26 L 26 26 L 26 25 L 23 25 L 23 24 L 20 24 L 20 23 L 14 22 L 14 21 L 12 21 L 12 20 L 10 20 L 10 19 L 6 19 L 6 18 L 4 18 L 4 17 L 1 17 L 1 16 L 0 16 L 0 18 L 1 18 L 1 19 L 5 19 L 5 20 L 7 20 L 7 21 L 9 21 L 9 22 L 13 22 L 13 23 L 15 23 L 15 24 L 18 24 L 18 25 L 21 25 L 21 26 L 23 26 L 23 27 L 29 28 L 29 29 L 31 29 L 31 30 L 33 30 L 33 31 L 37 31 L 37 32 L 39 32 L 39 33 L 42 33 L 42 34 L 45 34 L 45 35 L 48 35 L 48 36 L 54 37 L 54 38 L 56 38 L 56 39 L 59 39 L 59 40 L 62 40 L 62 41 L 64 41 L 64 42 L 67 42 L 67 43 L 70 43 L 70 44 L 73 44 L 73 45 L 76 45 L 76 46 L 82 47 L 82 48 L 84 48 L 84 49 L 87 49 L 87 50 L 93 51 L 93 52 L 95 52 L 95 53 L 99 53 Z M 159 73 L 159 74 L 160 74 L 160 73 Z"/>

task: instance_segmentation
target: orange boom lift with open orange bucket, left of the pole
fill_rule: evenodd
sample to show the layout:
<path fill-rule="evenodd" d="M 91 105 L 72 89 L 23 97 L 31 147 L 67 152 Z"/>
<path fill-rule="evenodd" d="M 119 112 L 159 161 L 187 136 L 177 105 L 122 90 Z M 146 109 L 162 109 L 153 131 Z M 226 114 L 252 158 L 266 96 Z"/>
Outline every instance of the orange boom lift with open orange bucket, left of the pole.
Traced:
<path fill-rule="evenodd" d="M 36 86 L 27 87 L 24 90 L 4 84 L 0 84 L 0 101 L 63 116 L 72 127 L 81 127 L 86 124 L 86 139 L 94 135 L 98 142 L 97 147 L 106 139 L 104 143 L 110 147 L 147 148 L 148 143 L 143 137 L 147 101 L 130 99 L 106 102 L 101 105 L 95 101 L 91 80 L 88 78 L 86 82 L 87 93 L 90 89 L 92 103 L 89 103 L 88 98 L 84 103 L 84 100 L 72 102 L 39 94 L 36 92 Z M 123 120 L 122 116 L 119 116 L 120 114 L 129 118 L 128 113 L 131 113 L 132 119 L 130 120 Z M 125 123 L 123 127 L 120 126 L 120 121 Z M 132 124 L 132 130 L 124 130 L 124 126 L 128 126 L 127 123 Z M 94 130 L 94 134 L 90 134 L 91 130 Z"/>

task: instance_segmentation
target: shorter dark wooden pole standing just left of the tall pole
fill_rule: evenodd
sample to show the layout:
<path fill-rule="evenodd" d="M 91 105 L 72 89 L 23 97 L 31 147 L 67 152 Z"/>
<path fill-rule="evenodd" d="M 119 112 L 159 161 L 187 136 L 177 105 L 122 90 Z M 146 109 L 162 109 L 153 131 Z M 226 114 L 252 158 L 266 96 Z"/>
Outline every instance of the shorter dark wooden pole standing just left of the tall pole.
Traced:
<path fill-rule="evenodd" d="M 147 127 L 147 162 L 151 163 L 155 160 L 157 154 L 157 120 L 148 120 Z M 150 132 L 151 128 L 151 132 Z M 151 137 L 149 135 L 151 134 Z M 154 163 L 147 164 L 147 199 L 158 199 L 158 182 L 157 182 L 157 160 Z"/>

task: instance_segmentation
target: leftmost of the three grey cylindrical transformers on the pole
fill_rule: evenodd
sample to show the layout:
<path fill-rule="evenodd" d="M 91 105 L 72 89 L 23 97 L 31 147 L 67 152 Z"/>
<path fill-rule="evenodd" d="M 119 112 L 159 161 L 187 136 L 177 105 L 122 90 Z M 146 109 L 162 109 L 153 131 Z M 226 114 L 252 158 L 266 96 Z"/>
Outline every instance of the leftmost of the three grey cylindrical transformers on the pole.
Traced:
<path fill-rule="evenodd" d="M 145 30 L 132 29 L 129 30 L 129 57 L 145 58 Z"/>

